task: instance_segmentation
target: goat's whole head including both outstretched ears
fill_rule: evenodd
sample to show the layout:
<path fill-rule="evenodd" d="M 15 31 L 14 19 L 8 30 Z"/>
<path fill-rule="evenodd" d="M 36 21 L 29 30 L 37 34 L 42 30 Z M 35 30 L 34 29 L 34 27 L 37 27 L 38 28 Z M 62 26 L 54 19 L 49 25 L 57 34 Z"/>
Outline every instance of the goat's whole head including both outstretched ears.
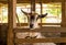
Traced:
<path fill-rule="evenodd" d="M 38 27 L 37 20 L 45 18 L 47 15 L 47 13 L 40 15 L 40 14 L 35 13 L 34 11 L 32 11 L 32 13 L 26 13 L 23 10 L 21 10 L 21 11 L 28 16 L 29 25 L 30 25 L 31 30 Z"/>

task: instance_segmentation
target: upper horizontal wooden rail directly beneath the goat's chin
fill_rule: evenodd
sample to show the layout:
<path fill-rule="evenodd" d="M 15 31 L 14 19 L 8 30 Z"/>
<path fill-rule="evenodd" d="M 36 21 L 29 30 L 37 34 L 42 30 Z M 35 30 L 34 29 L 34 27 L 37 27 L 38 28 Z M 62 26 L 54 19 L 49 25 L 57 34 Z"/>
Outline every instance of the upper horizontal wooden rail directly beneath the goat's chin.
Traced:
<path fill-rule="evenodd" d="M 66 32 L 66 27 L 53 27 L 53 26 L 44 26 L 41 29 L 30 30 L 29 27 L 15 27 L 14 32 Z"/>

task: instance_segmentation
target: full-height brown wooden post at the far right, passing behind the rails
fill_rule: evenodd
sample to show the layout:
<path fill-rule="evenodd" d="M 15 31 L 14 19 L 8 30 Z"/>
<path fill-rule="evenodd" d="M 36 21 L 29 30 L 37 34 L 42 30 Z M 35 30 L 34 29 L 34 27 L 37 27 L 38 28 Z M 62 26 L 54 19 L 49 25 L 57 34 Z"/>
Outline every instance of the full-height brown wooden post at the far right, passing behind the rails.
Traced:
<path fill-rule="evenodd" d="M 62 1 L 62 27 L 66 27 L 66 5 L 65 0 Z M 66 37 L 66 33 L 61 33 L 61 37 Z M 66 45 L 66 43 L 61 43 L 59 45 Z"/>

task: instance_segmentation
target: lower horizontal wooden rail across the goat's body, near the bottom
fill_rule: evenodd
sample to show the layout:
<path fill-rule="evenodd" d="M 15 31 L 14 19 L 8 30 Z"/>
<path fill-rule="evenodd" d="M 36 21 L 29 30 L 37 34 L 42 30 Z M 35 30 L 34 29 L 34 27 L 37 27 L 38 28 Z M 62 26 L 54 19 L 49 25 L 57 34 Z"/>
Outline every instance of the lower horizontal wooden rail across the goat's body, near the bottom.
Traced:
<path fill-rule="evenodd" d="M 15 38 L 15 43 L 66 43 L 66 37 L 51 38 Z"/>

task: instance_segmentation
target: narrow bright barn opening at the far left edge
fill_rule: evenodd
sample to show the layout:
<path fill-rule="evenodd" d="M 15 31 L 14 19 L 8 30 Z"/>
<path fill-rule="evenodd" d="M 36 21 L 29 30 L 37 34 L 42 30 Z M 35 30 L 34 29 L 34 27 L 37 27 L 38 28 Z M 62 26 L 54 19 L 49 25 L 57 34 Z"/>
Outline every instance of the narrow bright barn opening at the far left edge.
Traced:
<path fill-rule="evenodd" d="M 8 4 L 0 3 L 0 23 L 8 23 Z"/>

